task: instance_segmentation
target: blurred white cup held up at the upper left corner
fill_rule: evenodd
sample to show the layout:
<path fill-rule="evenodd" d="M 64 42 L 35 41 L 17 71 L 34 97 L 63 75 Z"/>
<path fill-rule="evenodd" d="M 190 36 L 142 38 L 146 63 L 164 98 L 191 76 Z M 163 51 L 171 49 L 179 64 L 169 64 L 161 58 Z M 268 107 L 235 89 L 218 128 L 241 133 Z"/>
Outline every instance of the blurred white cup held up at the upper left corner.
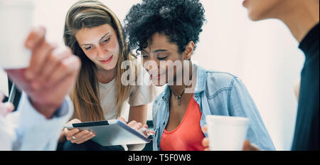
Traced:
<path fill-rule="evenodd" d="M 24 43 L 32 28 L 33 9 L 32 1 L 0 0 L 0 68 L 28 67 L 31 53 Z"/>

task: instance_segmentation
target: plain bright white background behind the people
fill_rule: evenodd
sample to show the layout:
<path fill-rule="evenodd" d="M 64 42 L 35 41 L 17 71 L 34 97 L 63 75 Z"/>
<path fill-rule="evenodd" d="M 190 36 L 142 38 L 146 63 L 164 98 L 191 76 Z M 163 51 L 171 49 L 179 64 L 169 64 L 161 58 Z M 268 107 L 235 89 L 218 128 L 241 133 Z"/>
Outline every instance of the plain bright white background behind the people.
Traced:
<path fill-rule="evenodd" d="M 35 26 L 47 28 L 47 38 L 63 45 L 65 14 L 75 0 L 33 0 Z M 102 0 L 121 21 L 139 0 Z M 202 0 L 207 22 L 193 61 L 208 70 L 238 75 L 256 102 L 277 150 L 292 144 L 297 100 L 294 84 L 304 55 L 297 41 L 277 20 L 252 22 L 238 0 Z M 7 91 L 0 70 L 0 90 Z M 161 90 L 161 89 L 160 89 Z M 151 119 L 151 105 L 148 118 Z"/>

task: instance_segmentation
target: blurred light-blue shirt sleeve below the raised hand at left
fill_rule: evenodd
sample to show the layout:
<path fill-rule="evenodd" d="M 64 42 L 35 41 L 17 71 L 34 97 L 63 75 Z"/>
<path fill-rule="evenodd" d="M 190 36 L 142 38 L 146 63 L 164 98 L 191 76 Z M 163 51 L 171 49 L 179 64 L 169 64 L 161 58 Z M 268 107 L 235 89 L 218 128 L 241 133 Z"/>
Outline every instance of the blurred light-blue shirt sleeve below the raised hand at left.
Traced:
<path fill-rule="evenodd" d="M 31 102 L 28 102 L 26 93 L 23 93 L 18 111 L 11 117 L 14 121 L 17 141 L 15 150 L 54 150 L 63 124 L 73 114 L 73 105 L 66 98 L 59 110 L 51 119 L 46 119 L 37 110 L 34 110 Z"/>

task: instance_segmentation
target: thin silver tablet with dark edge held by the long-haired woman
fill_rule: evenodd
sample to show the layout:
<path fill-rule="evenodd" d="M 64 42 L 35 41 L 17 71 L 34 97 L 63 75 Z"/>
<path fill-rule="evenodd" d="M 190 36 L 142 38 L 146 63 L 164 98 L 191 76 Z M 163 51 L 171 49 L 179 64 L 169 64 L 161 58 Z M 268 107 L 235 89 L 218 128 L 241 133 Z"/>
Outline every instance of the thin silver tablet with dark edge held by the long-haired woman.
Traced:
<path fill-rule="evenodd" d="M 95 137 L 91 140 L 102 146 L 115 146 L 124 144 L 145 144 L 151 139 L 144 137 L 136 130 L 127 126 L 119 119 L 112 119 L 99 122 L 82 122 L 65 126 L 68 129 L 78 128 L 80 130 L 90 130 L 95 132 Z"/>

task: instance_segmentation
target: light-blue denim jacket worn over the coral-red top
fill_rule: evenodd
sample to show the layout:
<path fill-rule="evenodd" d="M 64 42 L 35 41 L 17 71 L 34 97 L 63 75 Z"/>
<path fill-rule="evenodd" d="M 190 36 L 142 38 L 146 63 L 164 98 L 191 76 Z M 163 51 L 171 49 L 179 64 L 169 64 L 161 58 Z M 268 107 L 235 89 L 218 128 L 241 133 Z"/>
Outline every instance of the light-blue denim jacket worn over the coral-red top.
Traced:
<path fill-rule="evenodd" d="M 250 119 L 246 139 L 262 150 L 275 150 L 272 139 L 247 88 L 235 75 L 205 70 L 198 65 L 193 99 L 201 110 L 200 125 L 206 125 L 206 115 L 248 117 Z M 166 85 L 164 92 L 156 98 L 152 108 L 154 129 L 154 151 L 161 150 L 160 140 L 169 121 L 171 90 Z M 208 134 L 203 133 L 206 137 Z"/>

